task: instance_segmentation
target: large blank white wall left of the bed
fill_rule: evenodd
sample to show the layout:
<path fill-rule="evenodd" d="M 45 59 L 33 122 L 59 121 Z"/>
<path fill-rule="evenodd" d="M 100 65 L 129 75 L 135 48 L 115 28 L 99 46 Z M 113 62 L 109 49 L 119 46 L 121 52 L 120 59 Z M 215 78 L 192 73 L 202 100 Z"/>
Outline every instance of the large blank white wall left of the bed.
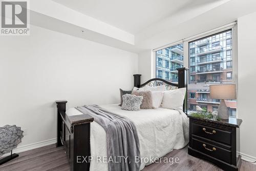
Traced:
<path fill-rule="evenodd" d="M 27 129 L 22 144 L 56 138 L 55 100 L 68 107 L 119 103 L 133 87 L 138 55 L 32 26 L 0 37 L 0 126 Z"/>

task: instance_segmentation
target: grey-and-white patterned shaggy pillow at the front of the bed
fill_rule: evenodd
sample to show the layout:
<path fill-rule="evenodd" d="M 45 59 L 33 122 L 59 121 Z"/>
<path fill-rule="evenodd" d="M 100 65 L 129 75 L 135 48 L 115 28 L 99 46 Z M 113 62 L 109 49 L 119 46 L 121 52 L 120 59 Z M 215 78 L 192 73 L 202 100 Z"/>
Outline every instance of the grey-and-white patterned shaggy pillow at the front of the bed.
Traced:
<path fill-rule="evenodd" d="M 142 99 L 143 99 L 142 96 L 135 96 L 132 94 L 124 94 L 121 109 L 138 111 L 138 110 L 140 110 L 140 105 L 142 103 Z"/>

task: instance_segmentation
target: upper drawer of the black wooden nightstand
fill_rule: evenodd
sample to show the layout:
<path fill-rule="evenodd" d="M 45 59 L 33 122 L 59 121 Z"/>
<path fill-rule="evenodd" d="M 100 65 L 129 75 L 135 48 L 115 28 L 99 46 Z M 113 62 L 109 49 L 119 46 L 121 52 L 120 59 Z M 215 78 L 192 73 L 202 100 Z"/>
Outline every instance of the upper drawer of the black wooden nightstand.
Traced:
<path fill-rule="evenodd" d="M 192 134 L 201 136 L 210 140 L 218 141 L 221 143 L 231 144 L 231 132 L 227 130 L 221 130 L 215 127 L 208 127 L 193 123 Z"/>

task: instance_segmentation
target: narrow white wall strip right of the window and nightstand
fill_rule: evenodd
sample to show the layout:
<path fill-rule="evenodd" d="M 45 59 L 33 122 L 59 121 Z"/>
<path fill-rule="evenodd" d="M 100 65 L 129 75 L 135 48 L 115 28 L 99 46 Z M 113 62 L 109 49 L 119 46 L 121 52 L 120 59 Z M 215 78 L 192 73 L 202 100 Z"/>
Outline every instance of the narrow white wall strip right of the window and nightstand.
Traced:
<path fill-rule="evenodd" d="M 241 153 L 256 160 L 255 137 L 255 40 L 256 12 L 238 18 L 238 113 L 241 125 Z"/>

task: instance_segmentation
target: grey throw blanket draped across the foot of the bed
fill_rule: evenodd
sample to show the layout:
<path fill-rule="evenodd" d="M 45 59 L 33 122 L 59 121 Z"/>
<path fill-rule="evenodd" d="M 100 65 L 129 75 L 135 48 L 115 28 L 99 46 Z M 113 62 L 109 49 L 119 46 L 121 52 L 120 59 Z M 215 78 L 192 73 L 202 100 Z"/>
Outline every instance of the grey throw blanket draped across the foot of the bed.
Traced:
<path fill-rule="evenodd" d="M 140 169 L 140 162 L 135 160 L 135 158 L 138 159 L 137 156 L 140 157 L 139 139 L 137 129 L 130 119 L 98 105 L 84 105 L 76 107 L 76 109 L 91 115 L 94 121 L 106 131 L 108 159 L 114 160 L 108 163 L 109 171 L 136 171 Z"/>

